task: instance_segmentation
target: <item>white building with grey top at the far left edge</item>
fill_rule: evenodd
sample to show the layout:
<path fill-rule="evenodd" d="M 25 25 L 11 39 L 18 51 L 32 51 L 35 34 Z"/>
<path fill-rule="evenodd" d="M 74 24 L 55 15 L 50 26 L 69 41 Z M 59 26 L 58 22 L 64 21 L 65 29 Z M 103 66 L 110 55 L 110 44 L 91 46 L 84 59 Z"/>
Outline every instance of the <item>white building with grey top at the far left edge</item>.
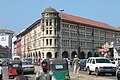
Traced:
<path fill-rule="evenodd" d="M 0 29 L 0 58 L 12 57 L 12 37 L 14 32 Z"/>

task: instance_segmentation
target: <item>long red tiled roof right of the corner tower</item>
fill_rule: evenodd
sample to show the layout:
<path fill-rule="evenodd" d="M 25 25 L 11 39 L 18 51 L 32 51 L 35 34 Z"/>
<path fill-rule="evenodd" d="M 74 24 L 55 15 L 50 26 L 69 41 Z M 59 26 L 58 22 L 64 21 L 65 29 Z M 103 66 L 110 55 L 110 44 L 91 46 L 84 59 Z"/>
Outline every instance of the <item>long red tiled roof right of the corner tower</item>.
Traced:
<path fill-rule="evenodd" d="M 88 24 L 91 26 L 96 26 L 96 27 L 101 27 L 101 28 L 106 28 L 106 29 L 111 29 L 111 30 L 117 30 L 120 31 L 120 29 L 114 28 L 108 24 L 102 23 L 102 22 L 98 22 L 98 21 L 94 21 L 94 20 L 90 20 L 90 19 L 86 19 L 86 18 L 81 18 L 78 16 L 73 16 L 70 14 L 65 14 L 65 13 L 59 13 L 59 16 L 62 16 L 62 19 L 64 20 L 69 20 L 69 21 L 73 21 L 73 22 L 78 22 L 78 23 L 82 23 L 82 24 Z"/>

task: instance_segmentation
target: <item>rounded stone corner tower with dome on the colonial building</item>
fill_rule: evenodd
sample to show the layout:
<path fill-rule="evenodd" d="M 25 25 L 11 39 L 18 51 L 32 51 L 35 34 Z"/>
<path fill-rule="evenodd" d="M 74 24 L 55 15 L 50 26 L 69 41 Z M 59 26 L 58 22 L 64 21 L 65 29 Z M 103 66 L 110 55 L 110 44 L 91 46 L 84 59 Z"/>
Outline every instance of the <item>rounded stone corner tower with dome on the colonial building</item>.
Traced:
<path fill-rule="evenodd" d="M 59 13 L 54 8 L 46 8 L 41 18 L 41 40 L 43 58 L 58 58 L 60 18 Z"/>

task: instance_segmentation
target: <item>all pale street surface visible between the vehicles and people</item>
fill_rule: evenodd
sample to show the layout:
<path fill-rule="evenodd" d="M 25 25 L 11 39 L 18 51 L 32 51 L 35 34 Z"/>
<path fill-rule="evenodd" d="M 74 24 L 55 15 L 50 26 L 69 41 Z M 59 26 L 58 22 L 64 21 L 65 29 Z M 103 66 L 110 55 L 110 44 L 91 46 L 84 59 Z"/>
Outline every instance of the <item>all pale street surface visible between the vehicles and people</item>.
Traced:
<path fill-rule="evenodd" d="M 38 66 L 35 66 L 36 70 L 39 70 Z M 3 71 L 4 71 L 4 75 L 3 75 L 3 79 L 4 80 L 13 80 L 13 79 L 8 79 L 8 74 L 7 74 L 7 66 L 3 67 Z M 70 77 L 71 80 L 117 80 L 116 76 L 112 76 L 111 74 L 106 74 L 104 76 L 95 76 L 94 73 L 92 73 L 91 75 L 88 75 L 86 71 L 79 71 L 79 74 L 74 75 L 73 73 L 73 68 L 69 67 L 69 73 L 70 73 Z M 35 78 L 35 74 L 25 74 L 25 76 L 28 76 L 29 80 L 34 80 Z"/>

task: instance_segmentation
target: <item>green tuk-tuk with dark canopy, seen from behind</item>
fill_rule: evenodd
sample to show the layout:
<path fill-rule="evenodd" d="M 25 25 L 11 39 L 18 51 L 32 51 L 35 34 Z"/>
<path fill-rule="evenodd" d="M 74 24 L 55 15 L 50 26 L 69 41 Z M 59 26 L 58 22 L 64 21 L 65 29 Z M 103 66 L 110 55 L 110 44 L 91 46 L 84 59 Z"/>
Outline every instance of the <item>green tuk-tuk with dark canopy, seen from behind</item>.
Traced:
<path fill-rule="evenodd" d="M 49 59 L 47 62 L 52 80 L 70 80 L 66 59 Z"/>

